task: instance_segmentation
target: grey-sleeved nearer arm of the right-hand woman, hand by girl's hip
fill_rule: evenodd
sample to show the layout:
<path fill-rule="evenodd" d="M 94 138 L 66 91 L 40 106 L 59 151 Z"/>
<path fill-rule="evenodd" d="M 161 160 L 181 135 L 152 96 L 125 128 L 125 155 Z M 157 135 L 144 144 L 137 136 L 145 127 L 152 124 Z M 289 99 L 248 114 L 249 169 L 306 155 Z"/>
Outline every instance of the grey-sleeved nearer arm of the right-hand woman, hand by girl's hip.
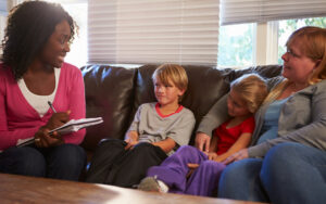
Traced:
<path fill-rule="evenodd" d="M 283 127 L 279 126 L 278 130 L 280 137 L 249 148 L 249 156 L 263 157 L 272 146 L 283 142 L 298 142 L 326 150 L 325 88 L 326 81 L 321 81 L 289 99 L 284 107 L 285 113 L 279 118 L 279 125 Z M 303 103 L 304 100 L 305 103 Z M 303 105 L 304 107 L 302 107 Z M 303 116 L 309 119 L 303 118 Z M 286 129 L 286 126 L 288 126 L 288 129 Z"/>

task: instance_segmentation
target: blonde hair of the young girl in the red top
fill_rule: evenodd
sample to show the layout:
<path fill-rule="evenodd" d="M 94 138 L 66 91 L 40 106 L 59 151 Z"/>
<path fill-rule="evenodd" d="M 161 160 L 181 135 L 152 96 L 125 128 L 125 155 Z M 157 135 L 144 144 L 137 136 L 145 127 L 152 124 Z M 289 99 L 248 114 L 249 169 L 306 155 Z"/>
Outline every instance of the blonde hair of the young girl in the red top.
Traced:
<path fill-rule="evenodd" d="M 231 82 L 230 88 L 246 102 L 250 113 L 255 113 L 268 94 L 265 80 L 256 74 L 237 78 Z"/>

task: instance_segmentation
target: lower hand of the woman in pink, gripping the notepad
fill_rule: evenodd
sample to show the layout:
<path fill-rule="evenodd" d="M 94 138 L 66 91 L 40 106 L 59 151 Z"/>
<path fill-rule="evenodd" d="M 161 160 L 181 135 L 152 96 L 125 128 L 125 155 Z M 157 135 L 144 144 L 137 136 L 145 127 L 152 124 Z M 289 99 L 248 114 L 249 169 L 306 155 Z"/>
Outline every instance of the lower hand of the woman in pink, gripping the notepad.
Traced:
<path fill-rule="evenodd" d="M 62 137 L 54 131 L 51 136 L 49 135 L 49 129 L 46 126 L 39 128 L 39 130 L 35 133 L 35 144 L 38 148 L 50 148 L 63 144 L 64 141 Z"/>

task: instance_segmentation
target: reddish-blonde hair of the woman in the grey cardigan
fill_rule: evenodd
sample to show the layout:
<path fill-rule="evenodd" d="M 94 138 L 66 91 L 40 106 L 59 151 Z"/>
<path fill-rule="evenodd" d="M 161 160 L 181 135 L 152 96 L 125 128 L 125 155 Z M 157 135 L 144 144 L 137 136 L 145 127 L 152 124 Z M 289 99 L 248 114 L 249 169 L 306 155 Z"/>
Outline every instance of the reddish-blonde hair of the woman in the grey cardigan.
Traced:
<path fill-rule="evenodd" d="M 313 62 L 318 63 L 308 78 L 309 85 L 314 85 L 326 78 L 326 29 L 306 26 L 297 29 L 288 39 L 286 46 L 297 42 L 301 52 Z M 274 101 L 289 86 L 291 81 L 285 79 L 273 89 L 264 103 Z"/>

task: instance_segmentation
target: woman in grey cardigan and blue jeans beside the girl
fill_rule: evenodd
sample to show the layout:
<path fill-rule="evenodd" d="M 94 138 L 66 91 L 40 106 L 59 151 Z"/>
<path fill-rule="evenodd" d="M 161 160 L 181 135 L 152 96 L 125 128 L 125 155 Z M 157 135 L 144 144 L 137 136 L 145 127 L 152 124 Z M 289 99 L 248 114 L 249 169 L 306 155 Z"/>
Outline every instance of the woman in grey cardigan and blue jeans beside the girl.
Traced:
<path fill-rule="evenodd" d="M 255 115 L 252 146 L 227 158 L 234 163 L 222 174 L 221 197 L 326 200 L 326 29 L 298 29 L 281 59 L 284 78 Z"/>

